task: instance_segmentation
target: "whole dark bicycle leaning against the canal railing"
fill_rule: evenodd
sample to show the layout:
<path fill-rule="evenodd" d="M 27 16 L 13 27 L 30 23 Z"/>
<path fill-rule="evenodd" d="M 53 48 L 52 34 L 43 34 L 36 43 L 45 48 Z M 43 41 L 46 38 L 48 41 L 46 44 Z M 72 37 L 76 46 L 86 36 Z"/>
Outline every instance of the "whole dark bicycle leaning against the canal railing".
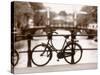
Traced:
<path fill-rule="evenodd" d="M 47 33 L 47 43 L 38 44 L 32 49 L 32 62 L 36 66 L 44 66 L 48 64 L 49 61 L 52 59 L 52 53 L 53 51 L 55 51 L 57 53 L 58 61 L 59 59 L 64 58 L 65 61 L 69 64 L 78 63 L 82 58 L 83 50 L 81 46 L 76 43 L 77 40 L 75 41 L 74 30 L 71 30 L 71 41 L 67 42 L 69 35 L 64 36 L 66 39 L 60 51 L 57 50 L 52 44 L 53 33 L 57 34 L 57 32 L 49 30 L 49 32 Z M 77 54 L 76 52 L 79 52 L 78 56 L 75 56 L 75 54 Z"/>

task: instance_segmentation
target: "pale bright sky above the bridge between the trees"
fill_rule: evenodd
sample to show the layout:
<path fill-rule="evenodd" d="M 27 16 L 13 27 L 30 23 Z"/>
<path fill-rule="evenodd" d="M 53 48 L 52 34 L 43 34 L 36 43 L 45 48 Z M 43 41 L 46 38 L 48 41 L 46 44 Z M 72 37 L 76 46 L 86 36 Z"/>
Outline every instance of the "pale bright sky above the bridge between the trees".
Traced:
<path fill-rule="evenodd" d="M 51 4 L 44 3 L 44 6 L 49 7 L 51 11 L 59 13 L 60 11 L 66 11 L 66 13 L 79 12 L 82 5 L 71 5 L 71 4 Z"/>

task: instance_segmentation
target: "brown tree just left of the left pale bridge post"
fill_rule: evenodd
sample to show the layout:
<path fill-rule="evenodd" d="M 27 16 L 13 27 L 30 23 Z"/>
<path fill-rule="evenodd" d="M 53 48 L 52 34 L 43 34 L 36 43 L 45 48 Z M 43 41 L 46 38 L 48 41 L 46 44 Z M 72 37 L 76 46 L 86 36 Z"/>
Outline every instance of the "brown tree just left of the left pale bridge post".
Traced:
<path fill-rule="evenodd" d="M 45 12 L 40 12 L 39 10 L 45 9 L 42 3 L 36 3 L 36 2 L 30 2 L 31 8 L 34 11 L 34 25 L 39 26 L 39 25 L 45 25 Z"/>

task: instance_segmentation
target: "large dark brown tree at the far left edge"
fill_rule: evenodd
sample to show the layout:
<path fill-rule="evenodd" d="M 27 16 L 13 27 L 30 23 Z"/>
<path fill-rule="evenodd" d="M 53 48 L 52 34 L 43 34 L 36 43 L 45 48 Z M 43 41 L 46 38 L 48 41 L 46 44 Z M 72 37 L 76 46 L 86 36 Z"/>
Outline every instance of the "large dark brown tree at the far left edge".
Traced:
<path fill-rule="evenodd" d="M 26 28 L 28 19 L 33 13 L 28 2 L 14 2 L 14 27 L 19 34 Z"/>

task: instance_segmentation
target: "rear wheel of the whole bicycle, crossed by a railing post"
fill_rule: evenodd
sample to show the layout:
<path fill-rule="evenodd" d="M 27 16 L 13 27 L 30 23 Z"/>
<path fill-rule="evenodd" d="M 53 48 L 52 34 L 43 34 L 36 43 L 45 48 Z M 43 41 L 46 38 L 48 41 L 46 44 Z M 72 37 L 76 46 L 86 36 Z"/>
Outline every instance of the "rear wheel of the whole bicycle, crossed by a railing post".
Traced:
<path fill-rule="evenodd" d="M 72 50 L 73 45 L 73 50 Z M 81 46 L 77 43 L 70 43 L 64 48 L 64 59 L 69 64 L 76 64 L 78 63 L 82 58 L 83 50 Z"/>

